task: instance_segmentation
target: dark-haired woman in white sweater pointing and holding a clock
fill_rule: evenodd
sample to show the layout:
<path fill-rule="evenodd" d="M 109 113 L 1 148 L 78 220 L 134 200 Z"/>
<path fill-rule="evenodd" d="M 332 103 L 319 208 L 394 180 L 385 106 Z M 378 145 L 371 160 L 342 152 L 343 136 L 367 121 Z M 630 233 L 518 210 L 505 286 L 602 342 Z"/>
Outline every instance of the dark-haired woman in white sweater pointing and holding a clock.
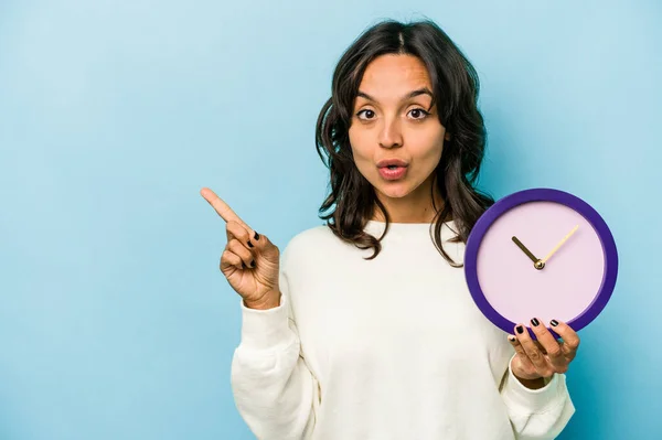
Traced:
<path fill-rule="evenodd" d="M 553 439 L 566 426 L 577 334 L 553 321 L 559 342 L 533 316 L 504 334 L 461 269 L 493 203 L 473 187 L 478 92 L 434 22 L 381 22 L 341 57 L 318 120 L 327 225 L 281 256 L 201 191 L 226 221 L 221 270 L 243 298 L 232 385 L 257 438 Z"/>

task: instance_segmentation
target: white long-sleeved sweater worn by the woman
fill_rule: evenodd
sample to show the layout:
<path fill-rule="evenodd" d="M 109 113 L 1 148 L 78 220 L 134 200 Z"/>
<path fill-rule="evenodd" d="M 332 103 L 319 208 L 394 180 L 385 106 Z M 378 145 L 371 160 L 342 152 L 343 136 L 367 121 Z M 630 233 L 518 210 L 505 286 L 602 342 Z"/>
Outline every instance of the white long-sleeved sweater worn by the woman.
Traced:
<path fill-rule="evenodd" d="M 452 238 L 453 222 L 442 238 Z M 365 230 L 380 237 L 384 223 Z M 509 368 L 506 334 L 473 303 L 430 224 L 391 224 L 373 260 L 327 226 L 281 254 L 281 303 L 243 305 L 237 409 L 260 440 L 554 439 L 575 411 L 565 375 Z M 456 261 L 465 245 L 445 243 Z M 533 318 L 533 316 L 532 316 Z"/>

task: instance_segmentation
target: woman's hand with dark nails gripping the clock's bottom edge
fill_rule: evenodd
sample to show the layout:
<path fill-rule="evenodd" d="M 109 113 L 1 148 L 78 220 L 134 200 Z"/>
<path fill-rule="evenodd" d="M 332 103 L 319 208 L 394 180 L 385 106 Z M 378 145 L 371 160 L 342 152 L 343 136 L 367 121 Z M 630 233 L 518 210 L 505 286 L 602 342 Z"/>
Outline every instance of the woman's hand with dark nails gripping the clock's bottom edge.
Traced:
<path fill-rule="evenodd" d="M 537 323 L 537 325 L 536 325 Z M 514 346 L 516 355 L 511 362 L 515 377 L 524 380 L 548 378 L 554 373 L 566 373 L 568 365 L 575 358 L 579 347 L 579 336 L 565 322 L 552 320 L 554 331 L 563 339 L 557 341 L 547 330 L 544 322 L 531 320 L 531 329 L 537 341 L 533 341 L 523 324 L 516 325 L 514 336 L 509 341 Z"/>

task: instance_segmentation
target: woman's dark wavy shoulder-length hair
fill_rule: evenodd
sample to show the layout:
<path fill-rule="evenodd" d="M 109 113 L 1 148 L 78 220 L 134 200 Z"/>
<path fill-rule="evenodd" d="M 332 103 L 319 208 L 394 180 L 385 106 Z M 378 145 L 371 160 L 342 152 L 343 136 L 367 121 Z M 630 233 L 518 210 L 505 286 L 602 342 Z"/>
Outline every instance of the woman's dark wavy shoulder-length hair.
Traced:
<path fill-rule="evenodd" d="M 374 248 L 367 259 L 380 254 L 391 219 L 374 187 L 354 164 L 349 129 L 363 73 L 371 61 L 385 54 L 417 56 L 428 69 L 439 121 L 450 133 L 435 170 L 433 192 L 437 186 L 445 203 L 441 210 L 434 206 L 437 213 L 433 238 L 444 258 L 453 267 L 461 267 L 444 249 L 441 226 L 452 218 L 457 235 L 451 242 L 467 243 L 478 218 L 494 203 L 491 196 L 473 187 L 487 132 L 478 109 L 478 74 L 459 47 L 430 20 L 408 24 L 382 21 L 361 34 L 341 56 L 333 73 L 331 98 L 322 107 L 316 127 L 318 154 L 331 178 L 331 192 L 319 210 L 320 218 L 325 219 L 327 226 L 342 240 L 361 249 Z M 386 219 L 380 238 L 363 230 L 375 208 L 381 210 Z"/>

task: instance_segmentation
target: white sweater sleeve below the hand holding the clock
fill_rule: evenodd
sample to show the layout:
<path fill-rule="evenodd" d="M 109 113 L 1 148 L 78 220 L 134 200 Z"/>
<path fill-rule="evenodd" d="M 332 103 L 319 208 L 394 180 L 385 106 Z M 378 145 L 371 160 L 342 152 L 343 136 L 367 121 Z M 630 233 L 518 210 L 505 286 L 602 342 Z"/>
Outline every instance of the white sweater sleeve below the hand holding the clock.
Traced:
<path fill-rule="evenodd" d="M 517 440 L 553 440 L 566 427 L 575 406 L 566 387 L 566 376 L 555 374 L 540 389 L 528 389 L 513 374 L 511 362 L 504 374 L 501 396 Z"/>

